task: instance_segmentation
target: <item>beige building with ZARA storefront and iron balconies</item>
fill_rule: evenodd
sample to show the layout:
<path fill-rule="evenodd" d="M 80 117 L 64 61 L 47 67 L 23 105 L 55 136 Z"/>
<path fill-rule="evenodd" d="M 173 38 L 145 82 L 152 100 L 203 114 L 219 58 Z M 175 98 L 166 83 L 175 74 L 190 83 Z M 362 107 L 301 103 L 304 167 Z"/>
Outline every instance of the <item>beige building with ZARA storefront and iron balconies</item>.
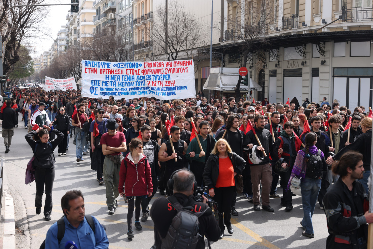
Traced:
<path fill-rule="evenodd" d="M 256 34 L 247 48 L 247 68 L 262 88 L 255 99 L 321 103 L 326 97 L 348 108 L 372 103 L 371 0 L 227 0 L 224 7 L 226 29 L 214 53 L 225 67 L 240 67 L 240 51 Z M 213 77 L 207 81 L 205 89 L 216 86 Z"/>

